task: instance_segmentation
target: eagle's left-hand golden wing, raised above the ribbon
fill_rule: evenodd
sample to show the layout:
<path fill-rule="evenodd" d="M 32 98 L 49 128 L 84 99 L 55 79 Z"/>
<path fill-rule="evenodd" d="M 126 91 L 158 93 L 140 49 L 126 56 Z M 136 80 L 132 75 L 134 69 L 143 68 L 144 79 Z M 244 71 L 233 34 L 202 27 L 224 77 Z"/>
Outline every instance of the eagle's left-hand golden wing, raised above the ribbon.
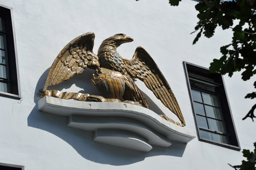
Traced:
<path fill-rule="evenodd" d="M 95 35 L 87 32 L 70 41 L 55 58 L 44 82 L 47 87 L 61 84 L 73 75 L 79 75 L 85 68 L 96 69 L 99 67 L 99 58 L 93 53 Z"/>

